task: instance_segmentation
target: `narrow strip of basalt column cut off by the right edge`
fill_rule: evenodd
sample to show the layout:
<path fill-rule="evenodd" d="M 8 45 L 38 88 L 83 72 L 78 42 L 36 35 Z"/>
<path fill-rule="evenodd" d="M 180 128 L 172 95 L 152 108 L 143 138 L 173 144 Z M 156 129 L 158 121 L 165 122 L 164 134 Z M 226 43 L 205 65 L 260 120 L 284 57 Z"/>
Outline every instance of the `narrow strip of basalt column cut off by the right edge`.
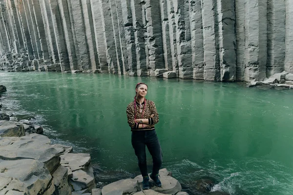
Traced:
<path fill-rule="evenodd" d="M 293 2 L 286 0 L 285 71 L 293 73 Z"/>

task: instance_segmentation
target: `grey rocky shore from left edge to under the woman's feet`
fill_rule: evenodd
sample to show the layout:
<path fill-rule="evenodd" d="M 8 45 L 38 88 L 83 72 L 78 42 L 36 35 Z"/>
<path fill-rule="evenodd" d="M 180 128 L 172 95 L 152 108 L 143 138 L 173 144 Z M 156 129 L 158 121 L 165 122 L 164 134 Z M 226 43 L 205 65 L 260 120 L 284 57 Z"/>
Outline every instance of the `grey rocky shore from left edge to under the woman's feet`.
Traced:
<path fill-rule="evenodd" d="M 0 195 L 188 195 L 167 169 L 160 170 L 161 188 L 150 180 L 151 189 L 142 190 L 142 176 L 96 188 L 90 155 L 51 144 L 42 132 L 0 111 Z"/>

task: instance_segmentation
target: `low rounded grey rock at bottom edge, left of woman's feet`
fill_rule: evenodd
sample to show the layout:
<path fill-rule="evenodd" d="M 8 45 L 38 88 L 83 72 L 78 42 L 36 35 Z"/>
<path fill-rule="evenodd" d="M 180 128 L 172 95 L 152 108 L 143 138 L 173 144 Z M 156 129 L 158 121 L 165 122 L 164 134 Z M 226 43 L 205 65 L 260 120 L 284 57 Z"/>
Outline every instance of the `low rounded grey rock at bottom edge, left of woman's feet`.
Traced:
<path fill-rule="evenodd" d="M 124 195 L 138 191 L 137 179 L 121 179 L 102 188 L 102 195 Z"/>

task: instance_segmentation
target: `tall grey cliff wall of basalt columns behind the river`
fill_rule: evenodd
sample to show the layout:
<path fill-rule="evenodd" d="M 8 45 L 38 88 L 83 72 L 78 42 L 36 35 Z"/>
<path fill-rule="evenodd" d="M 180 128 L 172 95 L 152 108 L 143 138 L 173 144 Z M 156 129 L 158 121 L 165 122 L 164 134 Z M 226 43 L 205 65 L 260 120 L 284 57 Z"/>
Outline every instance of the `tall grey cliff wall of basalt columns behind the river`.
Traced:
<path fill-rule="evenodd" d="M 165 73 L 213 81 L 293 73 L 292 0 L 0 0 L 0 5 L 1 70 Z"/>

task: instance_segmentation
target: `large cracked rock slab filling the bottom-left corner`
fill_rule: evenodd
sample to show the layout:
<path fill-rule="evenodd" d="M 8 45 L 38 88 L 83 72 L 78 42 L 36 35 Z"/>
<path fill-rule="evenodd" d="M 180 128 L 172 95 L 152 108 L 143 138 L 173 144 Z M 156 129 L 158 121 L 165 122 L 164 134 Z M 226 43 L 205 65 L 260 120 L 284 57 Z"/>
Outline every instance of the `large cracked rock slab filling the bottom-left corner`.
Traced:
<path fill-rule="evenodd" d="M 41 161 L 0 159 L 1 195 L 52 195 L 52 176 Z"/>

